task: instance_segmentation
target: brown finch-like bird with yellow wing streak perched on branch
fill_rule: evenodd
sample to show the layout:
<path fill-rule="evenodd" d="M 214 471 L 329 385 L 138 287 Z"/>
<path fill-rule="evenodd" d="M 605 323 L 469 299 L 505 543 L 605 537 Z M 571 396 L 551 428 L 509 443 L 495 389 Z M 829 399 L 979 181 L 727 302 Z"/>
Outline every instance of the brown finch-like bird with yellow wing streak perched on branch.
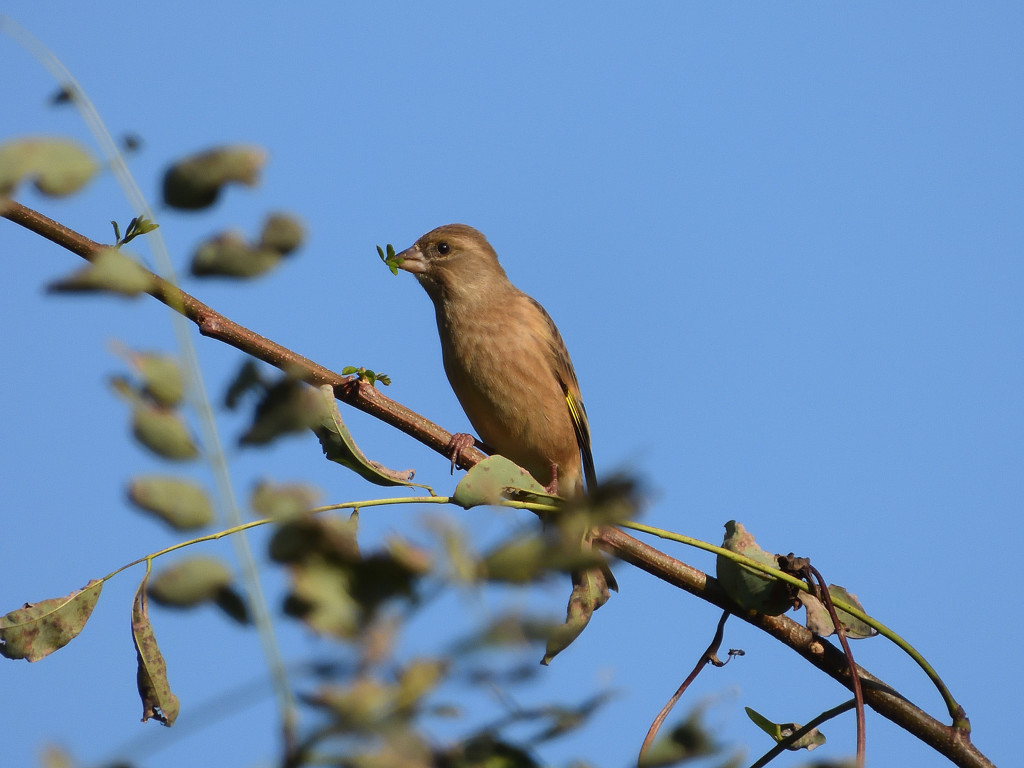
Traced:
<path fill-rule="evenodd" d="M 444 372 L 484 446 L 549 493 L 578 499 L 585 484 L 593 488 L 590 423 L 565 342 L 544 307 L 512 285 L 483 233 L 439 226 L 396 261 L 433 302 Z M 470 435 L 453 438 L 453 464 L 471 444 Z M 617 589 L 606 565 L 574 572 L 574 584 L 582 574 L 593 580 L 595 607 Z"/>

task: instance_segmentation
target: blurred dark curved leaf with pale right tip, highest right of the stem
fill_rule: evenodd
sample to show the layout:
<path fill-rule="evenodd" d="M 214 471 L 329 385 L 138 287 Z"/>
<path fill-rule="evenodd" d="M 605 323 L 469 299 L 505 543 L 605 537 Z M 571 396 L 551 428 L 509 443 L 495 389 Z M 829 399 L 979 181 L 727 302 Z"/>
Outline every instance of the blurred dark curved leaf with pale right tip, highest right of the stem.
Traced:
<path fill-rule="evenodd" d="M 164 203 L 182 210 L 207 208 L 216 202 L 225 184 L 256 185 L 265 162 L 262 148 L 244 144 L 187 157 L 164 174 Z"/>

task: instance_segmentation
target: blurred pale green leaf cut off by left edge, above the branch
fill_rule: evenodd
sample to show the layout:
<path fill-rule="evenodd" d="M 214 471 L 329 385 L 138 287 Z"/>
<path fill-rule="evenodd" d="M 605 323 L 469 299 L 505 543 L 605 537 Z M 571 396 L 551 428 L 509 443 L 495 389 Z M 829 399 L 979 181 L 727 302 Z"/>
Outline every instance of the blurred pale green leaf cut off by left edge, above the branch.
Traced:
<path fill-rule="evenodd" d="M 22 138 L 0 144 L 0 198 L 31 179 L 43 195 L 63 197 L 85 186 L 99 170 L 96 161 L 76 141 Z"/>

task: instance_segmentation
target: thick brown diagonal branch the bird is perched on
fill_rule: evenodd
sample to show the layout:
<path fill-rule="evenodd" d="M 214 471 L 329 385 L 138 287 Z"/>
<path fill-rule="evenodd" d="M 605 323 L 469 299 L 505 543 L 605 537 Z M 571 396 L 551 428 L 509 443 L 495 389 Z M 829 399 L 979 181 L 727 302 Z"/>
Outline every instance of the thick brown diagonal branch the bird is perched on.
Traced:
<path fill-rule="evenodd" d="M 13 201 L 0 202 L 0 216 L 86 260 L 91 260 L 96 252 L 104 247 Z M 230 344 L 257 359 L 298 376 L 309 384 L 317 386 L 330 384 L 334 387 L 338 399 L 375 416 L 441 455 L 447 456 L 452 433 L 433 422 L 395 402 L 370 384 L 324 368 L 228 319 L 173 284 L 156 275 L 154 279 L 154 288 L 148 291 L 150 295 L 193 321 L 204 336 Z M 463 452 L 462 463 L 470 467 L 483 458 L 484 455 L 480 451 L 468 449 Z M 852 688 L 850 671 L 843 652 L 830 643 L 815 637 L 796 622 L 785 616 L 744 613 L 729 600 L 715 579 L 634 539 L 623 530 L 604 527 L 595 541 L 620 559 L 763 630 L 793 648 L 829 677 L 847 688 Z M 901 726 L 955 765 L 965 768 L 994 768 L 992 763 L 971 743 L 970 736 L 965 730 L 943 725 L 904 699 L 883 681 L 859 667 L 857 669 L 864 687 L 864 700 L 876 712 Z"/>

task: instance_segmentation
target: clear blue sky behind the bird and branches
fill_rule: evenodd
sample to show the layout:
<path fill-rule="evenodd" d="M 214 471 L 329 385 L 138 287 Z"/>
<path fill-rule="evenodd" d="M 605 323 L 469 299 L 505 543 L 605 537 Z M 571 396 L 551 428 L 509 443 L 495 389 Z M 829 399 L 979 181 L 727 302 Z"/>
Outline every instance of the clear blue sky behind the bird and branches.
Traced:
<path fill-rule="evenodd" d="M 476 226 L 558 323 L 598 470 L 644 479 L 646 522 L 718 542 L 738 519 L 765 548 L 810 556 L 934 664 L 990 758 L 1019 759 L 1020 4 L 100 1 L 57 11 L 22 0 L 4 12 L 56 52 L 115 134 L 142 137 L 131 167 L 152 200 L 173 158 L 219 142 L 268 150 L 258 189 L 230 190 L 212 213 L 161 212 L 162 232 L 179 265 L 202 238 L 251 233 L 270 210 L 300 213 L 309 242 L 253 285 L 190 283 L 202 299 L 335 369 L 384 371 L 389 395 L 464 430 L 428 299 L 374 247 Z M 0 61 L 0 138 L 89 140 L 73 111 L 46 105 L 54 83 L 6 37 Z M 22 200 L 100 240 L 111 219 L 133 215 L 111 178 L 69 201 Z M 123 370 L 112 339 L 172 348 L 173 336 L 155 302 L 45 295 L 77 259 L 3 221 L 0 251 L 6 611 L 174 541 L 123 502 L 128 477 L 161 465 L 132 444 L 104 383 Z M 220 391 L 239 355 L 197 343 Z M 442 459 L 345 413 L 371 456 L 453 486 Z M 224 428 L 237 432 L 238 418 Z M 242 498 L 264 475 L 311 478 L 330 501 L 376 493 L 319 461 L 309 440 L 232 459 Z M 476 518 L 490 515 L 458 517 L 485 537 L 500 522 Z M 396 512 L 364 521 L 371 542 L 421 530 Z M 206 551 L 231 556 L 222 543 Z M 713 633 L 715 610 L 617 572 L 620 596 L 520 699 L 618 692 L 583 737 L 550 744 L 551 763 L 627 765 Z M 183 714 L 170 731 L 137 722 L 128 611 L 140 578 L 112 582 L 62 652 L 0 665 L 5 764 L 31 765 L 48 739 L 83 765 L 126 755 L 152 768 L 253 766 L 273 754 L 257 638 L 212 610 L 154 609 Z M 270 574 L 274 604 L 282 588 Z M 563 593 L 559 584 L 532 599 L 556 606 Z M 464 626 L 481 607 L 443 610 L 404 650 L 441 647 L 437 625 Z M 324 647 L 281 628 L 290 659 Z M 846 696 L 738 622 L 726 645 L 746 656 L 706 674 L 682 705 L 708 703 L 724 739 L 761 744 L 743 706 L 807 720 Z M 854 650 L 941 716 L 893 646 Z M 198 727 L 211 700 L 253 681 L 247 709 Z M 852 753 L 852 717 L 826 732 L 828 756 Z M 874 716 L 868 748 L 873 768 L 945 764 Z"/>

